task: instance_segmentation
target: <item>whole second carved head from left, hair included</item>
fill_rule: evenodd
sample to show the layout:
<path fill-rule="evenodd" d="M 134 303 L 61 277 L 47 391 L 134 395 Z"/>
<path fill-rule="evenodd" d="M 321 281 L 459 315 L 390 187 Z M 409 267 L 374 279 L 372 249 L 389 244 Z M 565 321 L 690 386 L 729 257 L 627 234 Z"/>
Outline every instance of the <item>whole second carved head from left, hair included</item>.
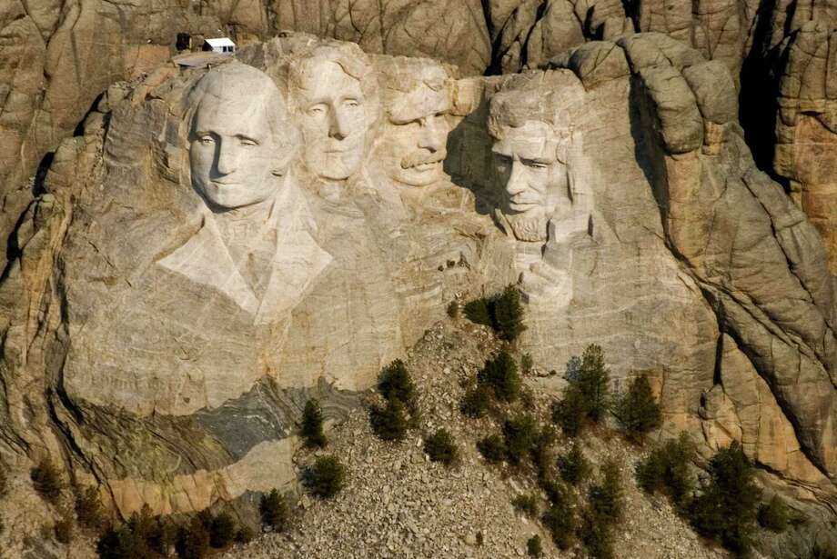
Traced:
<path fill-rule="evenodd" d="M 318 45 L 291 63 L 288 89 L 309 174 L 329 182 L 355 175 L 378 120 L 378 81 L 358 45 Z"/>

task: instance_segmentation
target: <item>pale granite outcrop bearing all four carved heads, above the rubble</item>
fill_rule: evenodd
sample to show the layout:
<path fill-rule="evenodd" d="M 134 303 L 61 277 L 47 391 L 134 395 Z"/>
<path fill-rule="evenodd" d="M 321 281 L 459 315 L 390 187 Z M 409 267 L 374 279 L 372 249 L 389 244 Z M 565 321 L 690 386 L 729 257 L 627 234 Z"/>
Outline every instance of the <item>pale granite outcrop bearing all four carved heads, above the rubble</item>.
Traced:
<path fill-rule="evenodd" d="M 305 34 L 236 58 L 109 87 L 15 216 L 5 454 L 121 514 L 255 499 L 308 397 L 344 417 L 450 301 L 517 284 L 541 369 L 602 345 L 662 435 L 741 440 L 831 518 L 833 276 L 727 65 L 658 33 L 492 77 Z"/>

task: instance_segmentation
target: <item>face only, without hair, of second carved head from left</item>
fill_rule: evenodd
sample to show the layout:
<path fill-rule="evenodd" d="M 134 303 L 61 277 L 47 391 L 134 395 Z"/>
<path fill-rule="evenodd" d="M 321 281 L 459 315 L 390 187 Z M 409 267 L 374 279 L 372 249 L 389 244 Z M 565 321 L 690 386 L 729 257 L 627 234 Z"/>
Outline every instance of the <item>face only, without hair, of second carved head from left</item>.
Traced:
<path fill-rule="evenodd" d="M 335 62 L 307 61 L 297 110 L 308 170 L 329 180 L 353 175 L 363 161 L 368 118 L 360 82 Z"/>

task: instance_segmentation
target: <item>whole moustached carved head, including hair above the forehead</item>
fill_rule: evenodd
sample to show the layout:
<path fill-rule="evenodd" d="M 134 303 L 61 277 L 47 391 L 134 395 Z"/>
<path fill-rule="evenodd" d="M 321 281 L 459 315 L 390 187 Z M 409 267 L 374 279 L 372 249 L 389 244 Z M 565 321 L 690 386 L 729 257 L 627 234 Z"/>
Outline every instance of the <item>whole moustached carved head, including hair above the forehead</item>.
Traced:
<path fill-rule="evenodd" d="M 376 161 L 397 185 L 427 186 L 444 178 L 452 81 L 439 63 L 398 57 L 379 65 L 381 124 Z"/>

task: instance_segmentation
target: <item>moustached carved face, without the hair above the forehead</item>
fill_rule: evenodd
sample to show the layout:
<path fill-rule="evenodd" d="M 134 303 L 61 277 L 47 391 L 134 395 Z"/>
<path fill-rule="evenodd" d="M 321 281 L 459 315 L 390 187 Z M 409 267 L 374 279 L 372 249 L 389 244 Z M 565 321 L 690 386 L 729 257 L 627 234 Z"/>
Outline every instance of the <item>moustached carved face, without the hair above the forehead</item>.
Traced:
<path fill-rule="evenodd" d="M 397 183 L 426 186 L 444 175 L 450 127 L 447 88 L 434 91 L 422 85 L 398 99 L 389 112 L 378 150 L 380 164 Z"/>

